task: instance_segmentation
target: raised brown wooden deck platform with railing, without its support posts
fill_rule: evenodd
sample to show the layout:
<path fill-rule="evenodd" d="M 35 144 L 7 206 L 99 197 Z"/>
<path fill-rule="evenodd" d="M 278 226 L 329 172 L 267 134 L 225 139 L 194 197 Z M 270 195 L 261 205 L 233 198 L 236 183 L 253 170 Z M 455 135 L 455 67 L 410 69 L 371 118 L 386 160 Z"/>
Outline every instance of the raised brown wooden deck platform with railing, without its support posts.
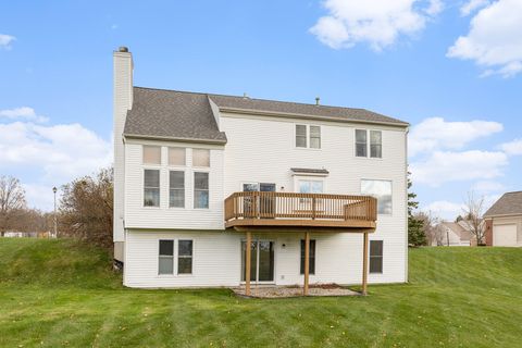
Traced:
<path fill-rule="evenodd" d="M 375 229 L 376 210 L 376 199 L 370 196 L 234 192 L 225 199 L 225 226 L 368 232 Z"/>

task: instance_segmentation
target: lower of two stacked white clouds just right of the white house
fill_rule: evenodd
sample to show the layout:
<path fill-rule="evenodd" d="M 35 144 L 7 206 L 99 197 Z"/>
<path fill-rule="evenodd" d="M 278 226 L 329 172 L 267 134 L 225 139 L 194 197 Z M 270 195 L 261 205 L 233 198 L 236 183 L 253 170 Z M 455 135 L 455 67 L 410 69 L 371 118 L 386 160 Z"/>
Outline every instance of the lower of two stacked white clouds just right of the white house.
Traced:
<path fill-rule="evenodd" d="M 508 158 L 500 151 L 435 151 L 411 163 L 410 169 L 414 183 L 438 187 L 447 182 L 495 178 L 507 164 Z"/>

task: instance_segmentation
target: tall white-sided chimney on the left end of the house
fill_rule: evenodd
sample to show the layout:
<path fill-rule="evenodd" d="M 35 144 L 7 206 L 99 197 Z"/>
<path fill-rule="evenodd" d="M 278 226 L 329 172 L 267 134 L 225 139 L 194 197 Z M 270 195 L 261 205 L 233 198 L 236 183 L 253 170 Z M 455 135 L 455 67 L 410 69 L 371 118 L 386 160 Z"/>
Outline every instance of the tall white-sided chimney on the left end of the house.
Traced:
<path fill-rule="evenodd" d="M 133 107 L 133 55 L 126 47 L 120 47 L 113 53 L 114 69 L 114 259 L 124 262 L 124 179 L 125 179 L 125 148 L 123 144 L 123 128 L 127 111 Z"/>

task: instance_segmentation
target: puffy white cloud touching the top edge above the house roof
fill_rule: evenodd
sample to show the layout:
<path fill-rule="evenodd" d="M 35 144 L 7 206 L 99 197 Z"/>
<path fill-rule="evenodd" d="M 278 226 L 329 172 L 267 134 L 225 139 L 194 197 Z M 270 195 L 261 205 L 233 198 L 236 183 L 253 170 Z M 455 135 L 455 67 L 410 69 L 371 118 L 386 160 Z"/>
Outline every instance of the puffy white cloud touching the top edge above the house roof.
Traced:
<path fill-rule="evenodd" d="M 334 49 L 368 42 L 380 51 L 400 36 L 412 36 L 443 10 L 440 0 L 326 0 L 328 15 L 310 32 Z"/>

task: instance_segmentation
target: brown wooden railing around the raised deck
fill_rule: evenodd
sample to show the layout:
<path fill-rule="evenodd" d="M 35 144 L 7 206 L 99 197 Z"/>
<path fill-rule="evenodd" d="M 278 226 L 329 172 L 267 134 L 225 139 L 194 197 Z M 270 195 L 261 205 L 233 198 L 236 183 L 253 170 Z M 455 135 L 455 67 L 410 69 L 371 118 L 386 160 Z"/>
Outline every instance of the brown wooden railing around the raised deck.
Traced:
<path fill-rule="evenodd" d="M 234 192 L 225 199 L 225 221 L 238 219 L 376 221 L 370 196 L 297 192 Z"/>

